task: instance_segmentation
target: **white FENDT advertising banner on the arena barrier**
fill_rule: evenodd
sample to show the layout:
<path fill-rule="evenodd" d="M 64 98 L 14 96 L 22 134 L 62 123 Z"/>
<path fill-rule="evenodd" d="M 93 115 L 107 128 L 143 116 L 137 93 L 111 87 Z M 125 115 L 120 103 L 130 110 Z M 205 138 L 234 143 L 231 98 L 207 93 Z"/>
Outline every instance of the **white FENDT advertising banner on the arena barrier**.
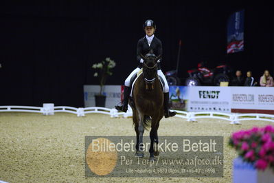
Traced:
<path fill-rule="evenodd" d="M 231 112 L 229 87 L 188 87 L 187 111 Z"/>

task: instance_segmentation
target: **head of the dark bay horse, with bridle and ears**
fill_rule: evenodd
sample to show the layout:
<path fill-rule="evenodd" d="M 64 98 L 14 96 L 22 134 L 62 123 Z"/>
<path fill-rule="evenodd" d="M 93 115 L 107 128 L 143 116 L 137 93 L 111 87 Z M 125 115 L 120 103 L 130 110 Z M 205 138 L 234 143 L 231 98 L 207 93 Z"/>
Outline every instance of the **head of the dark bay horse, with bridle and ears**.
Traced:
<path fill-rule="evenodd" d="M 144 74 L 144 80 L 146 81 L 146 89 L 154 89 L 153 83 L 155 82 L 155 79 L 157 78 L 157 61 L 159 58 L 161 58 L 161 55 L 155 56 L 153 53 L 148 53 L 146 56 L 140 55 L 141 58 L 143 58 L 143 74 Z"/>

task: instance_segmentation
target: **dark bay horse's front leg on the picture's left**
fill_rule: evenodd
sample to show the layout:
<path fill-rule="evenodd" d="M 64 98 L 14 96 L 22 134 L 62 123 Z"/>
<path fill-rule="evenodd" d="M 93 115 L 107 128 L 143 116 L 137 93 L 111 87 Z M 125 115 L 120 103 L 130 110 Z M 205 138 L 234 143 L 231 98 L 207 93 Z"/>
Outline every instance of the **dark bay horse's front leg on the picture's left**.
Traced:
<path fill-rule="evenodd" d="M 143 124 L 144 114 L 141 114 L 137 111 L 137 120 L 138 126 L 135 126 L 135 131 L 137 135 L 137 143 L 136 143 L 136 154 L 135 156 L 143 158 L 144 157 L 144 142 L 143 142 L 143 134 L 144 134 L 144 124 Z M 137 133 L 138 131 L 138 133 Z"/>

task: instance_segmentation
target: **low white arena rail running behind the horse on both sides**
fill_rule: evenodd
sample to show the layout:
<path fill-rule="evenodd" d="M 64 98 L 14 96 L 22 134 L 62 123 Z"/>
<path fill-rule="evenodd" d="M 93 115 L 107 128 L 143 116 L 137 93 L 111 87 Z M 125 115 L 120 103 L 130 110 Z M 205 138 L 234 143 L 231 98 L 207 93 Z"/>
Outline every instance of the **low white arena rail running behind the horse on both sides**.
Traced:
<path fill-rule="evenodd" d="M 274 115 L 270 114 L 234 114 L 234 113 L 220 113 L 214 111 L 203 112 L 186 112 L 177 111 L 178 118 L 184 118 L 187 121 L 195 121 L 198 118 L 216 118 L 220 120 L 228 120 L 231 124 L 240 124 L 242 120 L 264 120 L 274 122 Z M 116 109 L 109 109 L 105 107 L 69 107 L 69 106 L 56 106 L 56 107 L 33 107 L 33 106 L 0 106 L 0 112 L 32 112 L 41 113 L 44 115 L 53 115 L 56 112 L 66 112 L 76 114 L 77 116 L 85 116 L 85 114 L 106 114 L 111 118 L 124 117 L 128 118 L 133 116 L 133 111 L 129 108 L 128 112 L 118 112 Z"/>

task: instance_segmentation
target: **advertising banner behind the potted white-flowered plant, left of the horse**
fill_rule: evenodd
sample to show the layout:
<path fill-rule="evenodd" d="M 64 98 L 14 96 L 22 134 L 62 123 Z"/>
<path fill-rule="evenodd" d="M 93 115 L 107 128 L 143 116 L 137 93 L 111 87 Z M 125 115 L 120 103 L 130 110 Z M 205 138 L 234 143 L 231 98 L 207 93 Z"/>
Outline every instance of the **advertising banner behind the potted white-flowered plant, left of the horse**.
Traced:
<path fill-rule="evenodd" d="M 121 102 L 121 85 L 105 85 L 106 107 L 114 108 Z M 99 94 L 100 85 L 84 85 L 84 107 L 95 107 L 95 95 Z"/>

